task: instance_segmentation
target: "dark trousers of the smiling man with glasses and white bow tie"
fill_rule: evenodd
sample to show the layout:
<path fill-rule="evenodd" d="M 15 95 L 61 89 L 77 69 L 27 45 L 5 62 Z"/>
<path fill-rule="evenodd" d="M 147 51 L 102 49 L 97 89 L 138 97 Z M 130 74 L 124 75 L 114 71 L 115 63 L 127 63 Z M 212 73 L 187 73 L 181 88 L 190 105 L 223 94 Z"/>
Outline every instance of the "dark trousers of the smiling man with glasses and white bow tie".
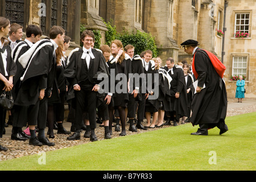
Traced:
<path fill-rule="evenodd" d="M 83 117 L 82 114 L 86 111 L 89 114 L 90 129 L 96 128 L 96 107 L 97 107 L 97 92 L 92 90 L 75 91 L 76 94 L 76 118 L 74 126 L 77 130 L 81 129 Z"/>

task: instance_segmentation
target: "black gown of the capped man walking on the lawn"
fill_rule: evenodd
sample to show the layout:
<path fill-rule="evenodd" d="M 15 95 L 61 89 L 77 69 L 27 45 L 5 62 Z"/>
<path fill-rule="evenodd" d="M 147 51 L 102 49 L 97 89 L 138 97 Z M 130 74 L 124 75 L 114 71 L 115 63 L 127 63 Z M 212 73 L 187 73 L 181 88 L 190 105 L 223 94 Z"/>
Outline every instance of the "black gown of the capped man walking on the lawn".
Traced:
<path fill-rule="evenodd" d="M 214 69 L 209 57 L 198 51 L 195 55 L 198 86 L 205 88 L 193 97 L 190 121 L 193 125 L 225 120 L 228 105 L 225 82 Z"/>

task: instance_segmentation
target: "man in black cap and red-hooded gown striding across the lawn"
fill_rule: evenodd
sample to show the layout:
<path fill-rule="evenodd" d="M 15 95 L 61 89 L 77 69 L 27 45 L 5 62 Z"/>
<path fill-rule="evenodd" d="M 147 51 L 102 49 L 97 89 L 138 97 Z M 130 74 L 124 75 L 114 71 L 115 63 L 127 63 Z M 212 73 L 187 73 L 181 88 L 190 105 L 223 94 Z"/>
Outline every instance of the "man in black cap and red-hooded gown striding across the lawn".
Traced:
<path fill-rule="evenodd" d="M 220 135 L 228 131 L 225 124 L 228 105 L 225 82 L 222 80 L 225 66 L 213 53 L 198 48 L 196 40 L 181 43 L 184 51 L 193 55 L 193 73 L 198 84 L 192 101 L 191 123 L 199 129 L 191 135 L 208 135 L 208 129 L 218 127 Z"/>

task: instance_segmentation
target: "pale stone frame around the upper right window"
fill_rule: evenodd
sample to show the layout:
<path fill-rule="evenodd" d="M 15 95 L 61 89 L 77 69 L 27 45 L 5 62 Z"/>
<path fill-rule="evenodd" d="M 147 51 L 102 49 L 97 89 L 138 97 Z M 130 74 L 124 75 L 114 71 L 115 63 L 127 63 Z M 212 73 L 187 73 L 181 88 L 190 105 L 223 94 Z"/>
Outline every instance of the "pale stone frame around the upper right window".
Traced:
<path fill-rule="evenodd" d="M 233 11 L 233 13 L 232 13 L 232 22 L 233 22 L 233 25 L 232 25 L 232 29 L 233 29 L 233 31 L 232 31 L 232 36 L 231 36 L 231 38 L 232 39 L 242 39 L 242 38 L 236 38 L 235 36 L 235 34 L 236 34 L 236 15 L 237 14 L 249 14 L 249 37 L 248 38 L 243 38 L 243 39 L 251 39 L 251 24 L 252 24 L 252 15 L 253 15 L 253 10 L 234 10 Z"/>

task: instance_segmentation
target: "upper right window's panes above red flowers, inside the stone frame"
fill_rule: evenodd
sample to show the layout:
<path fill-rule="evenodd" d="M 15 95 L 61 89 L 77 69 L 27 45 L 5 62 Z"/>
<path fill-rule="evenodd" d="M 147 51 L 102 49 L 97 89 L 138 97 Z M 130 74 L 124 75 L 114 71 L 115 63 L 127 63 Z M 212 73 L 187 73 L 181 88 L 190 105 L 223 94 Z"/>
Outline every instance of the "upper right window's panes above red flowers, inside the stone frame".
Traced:
<path fill-rule="evenodd" d="M 249 34 L 249 27 L 250 13 L 236 13 L 234 33 L 236 34 L 236 32 L 240 31 L 241 33 L 243 32 Z"/>

